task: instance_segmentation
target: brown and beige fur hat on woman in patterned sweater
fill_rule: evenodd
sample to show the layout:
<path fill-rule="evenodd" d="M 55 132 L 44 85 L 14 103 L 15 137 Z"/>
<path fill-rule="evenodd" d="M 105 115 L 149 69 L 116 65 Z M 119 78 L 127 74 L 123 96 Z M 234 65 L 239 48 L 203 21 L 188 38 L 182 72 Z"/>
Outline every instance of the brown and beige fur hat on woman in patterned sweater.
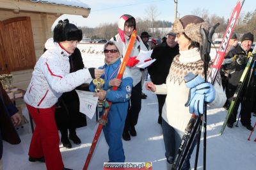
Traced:
<path fill-rule="evenodd" d="M 202 37 L 200 35 L 200 28 L 209 31 L 209 24 L 202 18 L 195 15 L 186 15 L 181 19 L 176 19 L 173 23 L 173 32 L 185 33 L 193 42 L 202 44 Z"/>

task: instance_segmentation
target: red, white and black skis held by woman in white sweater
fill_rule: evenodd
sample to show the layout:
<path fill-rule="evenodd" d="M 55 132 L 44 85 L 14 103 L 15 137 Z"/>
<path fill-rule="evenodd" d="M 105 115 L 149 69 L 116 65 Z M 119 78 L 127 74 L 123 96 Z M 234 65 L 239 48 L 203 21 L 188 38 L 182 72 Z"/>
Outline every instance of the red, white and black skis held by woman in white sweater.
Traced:
<path fill-rule="evenodd" d="M 209 73 L 209 75 L 207 77 L 207 81 L 210 82 L 211 84 L 214 84 L 214 82 L 216 81 L 218 72 L 220 71 L 220 68 L 221 68 L 221 65 L 223 63 L 223 59 L 225 56 L 225 51 L 228 46 L 228 42 L 229 42 L 230 37 L 234 31 L 234 26 L 238 19 L 239 13 L 241 12 L 243 3 L 244 3 L 244 0 L 237 1 L 237 4 L 232 12 L 229 22 L 228 22 L 228 26 L 225 31 L 225 35 L 221 42 L 220 48 L 218 49 L 218 52 L 214 59 L 214 63 L 211 66 L 211 72 Z M 172 169 L 181 169 L 182 168 L 184 161 L 186 160 L 186 157 L 187 157 L 187 155 L 191 149 L 191 146 L 195 140 L 195 137 L 196 137 L 196 134 L 197 134 L 199 128 L 200 128 L 200 118 L 199 118 L 199 116 L 196 117 L 193 114 L 193 116 L 191 116 L 191 119 L 189 120 L 188 126 L 186 127 L 186 130 L 182 137 L 182 141 L 180 143 L 180 148 L 179 148 L 177 155 L 175 157 L 175 160 L 173 162 Z M 204 151 L 206 152 L 206 146 L 205 146 Z M 204 154 L 204 169 L 206 168 L 205 161 L 206 161 L 206 154 Z"/>

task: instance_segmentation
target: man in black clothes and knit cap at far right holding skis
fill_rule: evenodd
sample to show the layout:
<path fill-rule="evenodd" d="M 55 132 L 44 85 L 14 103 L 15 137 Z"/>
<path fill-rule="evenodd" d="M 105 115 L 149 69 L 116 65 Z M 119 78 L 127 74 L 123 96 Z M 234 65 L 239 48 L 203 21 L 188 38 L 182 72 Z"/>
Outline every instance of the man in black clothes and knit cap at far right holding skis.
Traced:
<path fill-rule="evenodd" d="M 229 71 L 228 75 L 228 84 L 226 88 L 226 94 L 228 98 L 228 105 L 230 105 L 232 98 L 234 97 L 234 93 L 236 92 L 238 82 L 243 74 L 244 68 L 248 61 L 248 57 L 250 56 L 253 43 L 253 35 L 252 33 L 246 33 L 242 36 L 241 45 L 237 45 L 237 47 L 228 52 L 228 56 L 225 59 L 225 65 L 223 68 Z M 228 59 L 230 61 L 228 62 Z M 234 111 L 230 115 L 230 118 L 227 123 L 227 127 L 232 128 L 233 123 L 236 122 L 237 109 L 239 107 L 239 103 L 241 102 L 241 123 L 248 130 L 252 130 L 253 127 L 251 125 L 251 111 L 253 107 L 253 93 L 252 91 L 255 89 L 255 76 L 253 73 L 252 79 L 250 81 L 244 82 L 244 88 L 241 91 L 241 94 L 238 98 L 237 105 L 234 108 Z"/>

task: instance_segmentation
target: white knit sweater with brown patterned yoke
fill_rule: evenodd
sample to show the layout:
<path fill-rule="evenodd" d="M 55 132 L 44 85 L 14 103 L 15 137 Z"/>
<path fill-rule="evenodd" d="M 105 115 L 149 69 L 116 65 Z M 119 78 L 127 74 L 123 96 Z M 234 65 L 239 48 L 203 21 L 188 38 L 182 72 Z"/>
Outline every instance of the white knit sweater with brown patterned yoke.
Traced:
<path fill-rule="evenodd" d="M 189 88 L 186 87 L 184 76 L 189 72 L 204 77 L 204 62 L 196 48 L 180 51 L 180 54 L 175 56 L 166 78 L 166 84 L 156 85 L 155 92 L 156 94 L 167 94 L 162 117 L 169 125 L 182 132 L 184 132 L 191 118 L 189 108 L 184 106 L 189 95 Z M 222 107 L 227 98 L 221 86 L 220 73 L 218 73 L 214 88 L 216 97 L 208 106 L 211 108 Z"/>

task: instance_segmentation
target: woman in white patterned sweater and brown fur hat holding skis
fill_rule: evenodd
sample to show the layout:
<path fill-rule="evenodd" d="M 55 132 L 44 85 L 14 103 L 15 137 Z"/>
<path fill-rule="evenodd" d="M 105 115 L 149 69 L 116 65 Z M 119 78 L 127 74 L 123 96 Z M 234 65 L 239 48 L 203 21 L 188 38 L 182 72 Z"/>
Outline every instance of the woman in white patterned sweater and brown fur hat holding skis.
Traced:
<path fill-rule="evenodd" d="M 177 34 L 175 41 L 179 43 L 180 54 L 175 56 L 172 61 L 166 84 L 155 85 L 152 82 L 147 82 L 146 84 L 148 90 L 156 94 L 167 95 L 162 113 L 162 128 L 168 169 L 172 167 L 182 135 L 191 118 L 188 107 L 184 107 L 189 96 L 188 82 L 185 82 L 184 76 L 191 72 L 195 75 L 200 75 L 198 79 L 203 80 L 202 77 L 204 77 L 204 61 L 202 61 L 199 52 L 200 44 L 202 44 L 200 27 L 207 31 L 209 24 L 194 15 L 186 15 L 181 19 L 175 20 L 173 31 Z M 191 80 L 192 83 L 193 81 Z M 198 85 L 196 82 L 194 84 L 195 86 Z M 220 75 L 218 74 L 214 86 L 208 82 L 205 82 L 205 84 L 210 89 L 205 93 L 205 97 L 207 95 L 210 96 L 209 101 L 205 99 L 205 101 L 209 102 L 208 106 L 212 108 L 222 107 L 225 104 L 226 96 L 221 87 Z M 195 109 L 195 112 L 200 112 L 197 108 L 193 108 L 193 105 L 189 107 L 191 110 Z M 193 147 L 195 147 L 195 144 L 196 141 Z M 192 151 L 193 148 L 191 148 L 191 153 Z M 190 168 L 190 154 L 186 158 L 182 169 Z"/>

